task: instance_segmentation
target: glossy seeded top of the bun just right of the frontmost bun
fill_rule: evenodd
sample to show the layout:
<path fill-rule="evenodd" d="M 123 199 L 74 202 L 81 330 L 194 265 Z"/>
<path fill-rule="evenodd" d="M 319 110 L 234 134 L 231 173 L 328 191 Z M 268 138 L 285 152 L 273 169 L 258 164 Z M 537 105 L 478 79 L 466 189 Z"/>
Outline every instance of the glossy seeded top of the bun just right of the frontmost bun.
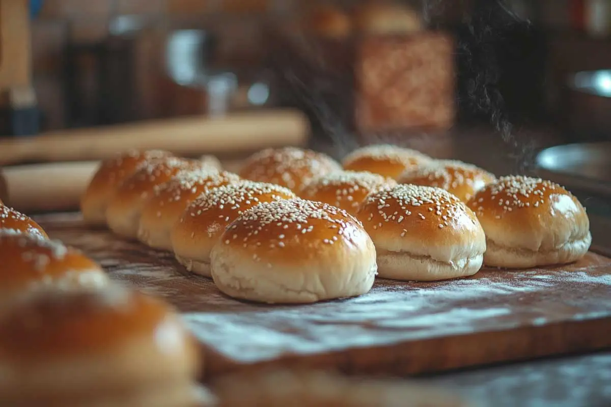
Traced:
<path fill-rule="evenodd" d="M 401 184 L 368 196 L 357 214 L 378 251 L 451 262 L 486 251 L 475 214 L 451 193 Z"/>

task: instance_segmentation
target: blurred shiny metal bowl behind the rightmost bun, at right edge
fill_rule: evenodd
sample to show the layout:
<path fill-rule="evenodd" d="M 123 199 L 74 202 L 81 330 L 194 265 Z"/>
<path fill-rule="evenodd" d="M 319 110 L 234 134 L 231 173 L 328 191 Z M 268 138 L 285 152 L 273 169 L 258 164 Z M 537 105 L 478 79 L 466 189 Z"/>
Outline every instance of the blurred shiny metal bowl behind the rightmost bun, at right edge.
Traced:
<path fill-rule="evenodd" d="M 598 196 L 611 197 L 611 142 L 554 146 L 536 157 L 540 176 Z"/>

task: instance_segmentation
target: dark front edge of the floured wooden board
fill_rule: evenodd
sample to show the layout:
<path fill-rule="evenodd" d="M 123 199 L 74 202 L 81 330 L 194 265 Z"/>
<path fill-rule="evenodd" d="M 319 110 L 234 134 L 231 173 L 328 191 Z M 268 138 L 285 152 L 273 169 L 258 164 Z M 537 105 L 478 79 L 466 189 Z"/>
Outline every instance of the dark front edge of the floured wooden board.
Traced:
<path fill-rule="evenodd" d="M 604 350 L 611 348 L 611 337 L 600 333 L 608 329 L 611 329 L 611 317 L 351 348 L 318 355 L 290 355 L 254 364 L 240 364 L 202 345 L 205 360 L 202 380 L 208 381 L 238 370 L 268 367 L 337 369 L 342 373 L 359 375 L 436 373 Z M 456 344 L 459 344 L 459 349 L 456 349 Z M 477 351 L 469 351 L 472 349 Z"/>

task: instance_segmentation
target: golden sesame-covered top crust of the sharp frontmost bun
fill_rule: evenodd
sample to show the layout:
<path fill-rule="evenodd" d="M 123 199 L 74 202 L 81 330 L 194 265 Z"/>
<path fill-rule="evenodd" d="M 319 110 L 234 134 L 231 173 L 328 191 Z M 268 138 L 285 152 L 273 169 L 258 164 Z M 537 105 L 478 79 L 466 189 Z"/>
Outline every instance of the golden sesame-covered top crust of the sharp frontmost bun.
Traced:
<path fill-rule="evenodd" d="M 371 243 L 362 224 L 348 212 L 297 198 L 252 207 L 227 226 L 218 244 L 262 264 L 286 266 L 289 272 L 301 270 L 295 265 L 313 258 L 337 258 L 338 253 L 352 253 Z"/>

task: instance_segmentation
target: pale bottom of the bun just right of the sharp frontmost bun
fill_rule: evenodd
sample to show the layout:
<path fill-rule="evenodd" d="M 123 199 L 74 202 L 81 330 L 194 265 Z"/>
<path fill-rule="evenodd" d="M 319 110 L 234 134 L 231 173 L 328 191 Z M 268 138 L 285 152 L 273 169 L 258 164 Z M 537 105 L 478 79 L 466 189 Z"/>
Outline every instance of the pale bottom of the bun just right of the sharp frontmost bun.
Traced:
<path fill-rule="evenodd" d="M 477 273 L 482 263 L 482 254 L 452 264 L 406 252 L 378 251 L 378 275 L 393 280 L 438 281 L 467 277 Z"/>

